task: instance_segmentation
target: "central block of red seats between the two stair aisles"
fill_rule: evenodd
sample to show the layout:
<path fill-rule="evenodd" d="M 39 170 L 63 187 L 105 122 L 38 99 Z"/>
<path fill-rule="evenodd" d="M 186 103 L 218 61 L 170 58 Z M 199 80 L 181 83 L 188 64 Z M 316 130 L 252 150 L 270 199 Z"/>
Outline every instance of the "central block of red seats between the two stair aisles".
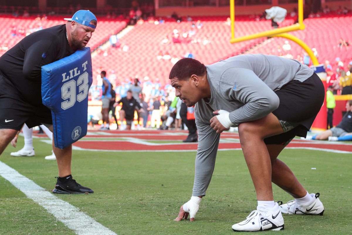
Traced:
<path fill-rule="evenodd" d="M 169 71 L 173 64 L 170 60 L 158 59 L 157 55 L 168 53 L 171 57 L 181 59 L 185 54 L 191 53 L 197 60 L 209 64 L 231 53 L 241 54 L 265 38 L 253 39 L 237 44 L 230 43 L 230 26 L 225 21 L 202 21 L 201 29 L 192 28 L 191 22 L 165 22 L 164 24 L 136 25 L 120 39 L 129 50 L 108 48 L 107 53 L 93 56 L 95 69 L 114 70 L 120 81 L 130 80 L 134 76 L 143 78 L 149 76 L 152 81 L 159 79 L 162 84 L 168 82 Z M 271 29 L 270 21 L 240 21 L 236 24 L 236 34 L 244 36 L 258 30 Z M 168 36 L 171 41 L 173 30 L 180 34 L 193 30 L 195 35 L 189 40 L 197 41 L 182 43 L 162 43 Z"/>

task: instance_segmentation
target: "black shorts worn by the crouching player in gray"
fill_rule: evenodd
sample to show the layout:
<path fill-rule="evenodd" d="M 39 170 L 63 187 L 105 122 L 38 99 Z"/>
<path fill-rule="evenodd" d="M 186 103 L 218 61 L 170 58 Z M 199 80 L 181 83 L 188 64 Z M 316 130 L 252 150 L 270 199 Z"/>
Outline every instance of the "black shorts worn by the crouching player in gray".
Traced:
<path fill-rule="evenodd" d="M 293 129 L 264 139 L 265 144 L 287 145 L 295 136 L 306 137 L 325 98 L 324 85 L 313 73 L 304 82 L 293 80 L 275 92 L 279 107 L 272 113 Z"/>

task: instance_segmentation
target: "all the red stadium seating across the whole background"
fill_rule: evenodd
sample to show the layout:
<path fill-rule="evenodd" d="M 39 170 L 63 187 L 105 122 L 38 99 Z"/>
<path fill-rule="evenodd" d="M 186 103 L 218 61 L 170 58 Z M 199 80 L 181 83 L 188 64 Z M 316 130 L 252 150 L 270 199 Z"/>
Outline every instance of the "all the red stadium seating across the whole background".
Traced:
<path fill-rule="evenodd" d="M 329 60 L 333 69 L 337 68 L 336 57 L 347 64 L 352 60 L 352 46 L 338 47 L 339 39 L 351 40 L 351 31 L 348 22 L 351 22 L 351 15 L 337 15 L 329 13 L 327 17 L 308 18 L 304 20 L 306 29 L 303 31 L 290 32 L 292 35 L 302 39 L 310 48 L 316 48 L 318 60 L 323 63 Z M 47 28 L 58 24 L 64 24 L 64 17 L 50 17 L 48 20 L 36 20 L 14 18 L 12 16 L 2 16 L 0 18 L 2 27 L 0 28 L 0 47 L 13 47 L 26 33 L 39 27 Z M 214 63 L 220 59 L 242 53 L 263 53 L 285 56 L 287 52 L 282 50 L 285 38 L 258 38 L 246 42 L 231 44 L 230 25 L 226 22 L 226 17 L 197 17 L 201 20 L 202 27 L 192 27 L 191 21 L 176 23 L 174 20 L 166 19 L 164 23 L 147 23 L 131 26 L 132 28 L 119 41 L 121 47 L 113 48 L 106 44 L 111 33 L 118 33 L 126 27 L 126 21 L 98 18 L 98 27 L 94 32 L 92 40 L 88 46 L 96 53 L 93 54 L 93 71 L 104 69 L 108 73 L 115 71 L 117 81 L 130 81 L 131 78 L 138 76 L 144 78 L 148 76 L 151 81 L 157 78 L 161 84 L 168 83 L 168 74 L 173 66 L 170 59 L 157 58 L 159 54 L 169 54 L 170 57 L 178 59 L 187 53 L 205 64 Z M 270 21 L 257 20 L 252 16 L 236 17 L 235 37 L 245 36 L 254 32 L 266 31 L 271 29 Z M 153 21 L 152 21 L 153 22 Z M 281 26 L 293 24 L 292 18 L 286 19 Z M 16 27 L 16 36 L 12 36 L 12 27 Z M 19 29 L 22 29 L 22 34 Z M 173 43 L 172 33 L 174 30 L 182 35 L 183 32 L 193 31 L 194 36 L 188 42 Z M 170 43 L 163 43 L 163 39 L 168 36 Z M 185 41 L 185 39 L 183 39 Z M 265 42 L 265 43 L 263 43 Z M 293 58 L 302 58 L 302 48 L 294 42 L 289 42 L 291 50 L 289 52 Z M 123 48 L 123 45 L 126 45 Z M 122 50 L 122 48 L 124 50 Z M 0 55 L 5 50 L 0 51 Z M 97 74 L 94 74 L 94 77 Z"/>

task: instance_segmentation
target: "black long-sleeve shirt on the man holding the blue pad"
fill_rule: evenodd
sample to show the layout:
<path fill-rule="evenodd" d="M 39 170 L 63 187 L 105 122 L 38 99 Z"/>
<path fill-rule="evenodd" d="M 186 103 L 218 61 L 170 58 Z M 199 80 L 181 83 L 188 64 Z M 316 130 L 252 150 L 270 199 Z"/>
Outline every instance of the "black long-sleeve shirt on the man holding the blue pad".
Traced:
<path fill-rule="evenodd" d="M 18 91 L 18 94 L 6 93 L 0 87 L 1 95 L 21 98 L 32 105 L 42 105 L 42 66 L 74 52 L 67 41 L 65 25 L 39 30 L 26 36 L 0 57 L 2 77 L 7 80 L 6 84 Z"/>

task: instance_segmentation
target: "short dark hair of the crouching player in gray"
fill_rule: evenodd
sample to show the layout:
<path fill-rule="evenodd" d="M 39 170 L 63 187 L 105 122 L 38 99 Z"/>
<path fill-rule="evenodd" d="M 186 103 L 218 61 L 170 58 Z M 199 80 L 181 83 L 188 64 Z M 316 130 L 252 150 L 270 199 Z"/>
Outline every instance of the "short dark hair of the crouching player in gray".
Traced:
<path fill-rule="evenodd" d="M 207 72 L 207 68 L 201 62 L 192 58 L 183 58 L 172 67 L 169 79 L 178 78 L 180 80 L 187 80 L 193 74 L 203 76 Z"/>

